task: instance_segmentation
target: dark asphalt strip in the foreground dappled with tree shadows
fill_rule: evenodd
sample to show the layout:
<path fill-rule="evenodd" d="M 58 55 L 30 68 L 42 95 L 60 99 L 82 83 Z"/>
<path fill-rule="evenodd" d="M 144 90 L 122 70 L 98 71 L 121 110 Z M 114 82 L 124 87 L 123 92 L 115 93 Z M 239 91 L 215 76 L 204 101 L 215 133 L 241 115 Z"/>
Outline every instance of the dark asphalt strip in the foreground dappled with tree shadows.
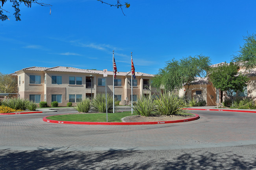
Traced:
<path fill-rule="evenodd" d="M 54 149 L 54 148 L 53 148 Z M 55 148 L 56 149 L 56 148 Z M 166 154 L 168 153 L 168 154 Z M 192 152 L 172 155 L 169 151 L 15 151 L 0 150 L 1 170 L 163 169 L 163 170 L 252 170 L 256 159 L 225 152 Z"/>

